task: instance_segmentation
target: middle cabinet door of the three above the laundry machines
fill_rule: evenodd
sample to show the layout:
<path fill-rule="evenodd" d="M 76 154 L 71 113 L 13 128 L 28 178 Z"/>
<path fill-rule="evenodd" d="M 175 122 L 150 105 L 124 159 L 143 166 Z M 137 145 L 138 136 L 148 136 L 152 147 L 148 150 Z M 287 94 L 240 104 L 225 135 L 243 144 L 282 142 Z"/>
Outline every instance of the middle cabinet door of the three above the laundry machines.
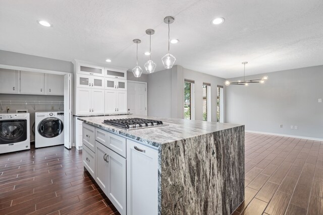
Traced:
<path fill-rule="evenodd" d="M 20 93 L 45 94 L 45 74 L 20 71 Z"/>

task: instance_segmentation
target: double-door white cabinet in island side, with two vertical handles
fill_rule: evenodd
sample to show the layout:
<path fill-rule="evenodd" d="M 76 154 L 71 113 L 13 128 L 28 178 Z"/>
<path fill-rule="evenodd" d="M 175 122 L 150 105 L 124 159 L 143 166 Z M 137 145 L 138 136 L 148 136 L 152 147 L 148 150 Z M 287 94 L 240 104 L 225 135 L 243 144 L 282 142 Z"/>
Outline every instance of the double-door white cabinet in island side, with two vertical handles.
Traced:
<path fill-rule="evenodd" d="M 126 159 L 95 142 L 95 181 L 121 214 L 126 211 Z"/>

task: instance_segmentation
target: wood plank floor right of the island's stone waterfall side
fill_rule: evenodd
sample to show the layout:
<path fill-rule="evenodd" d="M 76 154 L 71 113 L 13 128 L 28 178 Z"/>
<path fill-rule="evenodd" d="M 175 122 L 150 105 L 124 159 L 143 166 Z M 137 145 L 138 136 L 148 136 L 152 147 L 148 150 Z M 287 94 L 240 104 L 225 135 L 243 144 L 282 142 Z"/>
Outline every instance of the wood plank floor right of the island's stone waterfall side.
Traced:
<path fill-rule="evenodd" d="M 238 214 L 323 215 L 323 142 L 246 133 Z"/>

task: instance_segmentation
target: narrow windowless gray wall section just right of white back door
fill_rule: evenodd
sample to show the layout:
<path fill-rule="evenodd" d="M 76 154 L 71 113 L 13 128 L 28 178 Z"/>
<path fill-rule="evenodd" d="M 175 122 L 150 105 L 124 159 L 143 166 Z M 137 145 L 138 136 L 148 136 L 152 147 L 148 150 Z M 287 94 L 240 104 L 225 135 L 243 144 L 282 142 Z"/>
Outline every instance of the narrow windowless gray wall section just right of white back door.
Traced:
<path fill-rule="evenodd" d="M 148 116 L 172 117 L 172 70 L 148 75 Z"/>

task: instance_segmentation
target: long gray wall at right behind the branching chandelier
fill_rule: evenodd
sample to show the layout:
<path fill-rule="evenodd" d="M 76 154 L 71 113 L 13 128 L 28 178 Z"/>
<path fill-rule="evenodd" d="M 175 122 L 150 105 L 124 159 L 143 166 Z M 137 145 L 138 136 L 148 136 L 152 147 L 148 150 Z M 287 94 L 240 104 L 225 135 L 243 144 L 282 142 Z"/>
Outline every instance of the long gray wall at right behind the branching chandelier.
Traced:
<path fill-rule="evenodd" d="M 264 75 L 269 78 L 263 85 L 227 87 L 227 122 L 245 124 L 246 130 L 323 138 L 323 103 L 318 103 L 323 65 L 247 78 Z"/>

